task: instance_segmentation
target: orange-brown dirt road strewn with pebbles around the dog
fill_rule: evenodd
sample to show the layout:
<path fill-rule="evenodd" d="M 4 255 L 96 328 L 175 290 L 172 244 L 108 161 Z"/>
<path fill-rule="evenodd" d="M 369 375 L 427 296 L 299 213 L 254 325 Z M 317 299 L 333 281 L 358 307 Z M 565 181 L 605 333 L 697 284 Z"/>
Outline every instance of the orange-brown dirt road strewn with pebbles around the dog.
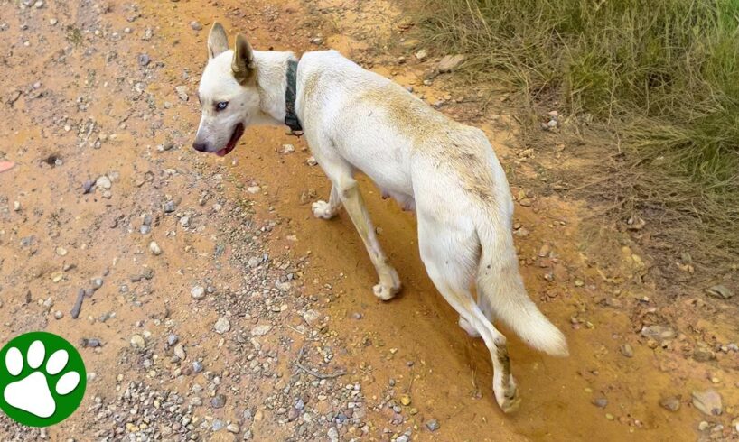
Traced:
<path fill-rule="evenodd" d="M 398 6 L 0 6 L 0 160 L 16 163 L 0 173 L 0 338 L 60 334 L 89 372 L 70 419 L 39 430 L 2 416 L 4 440 L 737 438 L 735 310 L 662 296 L 628 235 L 594 244 L 585 203 L 529 189 L 557 163 L 519 145 L 513 104 L 489 88 L 425 84 L 437 59 L 415 55 Z M 380 302 L 349 218 L 310 213 L 329 186 L 304 140 L 254 128 L 223 159 L 192 150 L 214 18 L 260 50 L 342 51 L 490 135 L 529 293 L 571 351 L 549 358 L 507 333 L 519 412 L 500 412 L 482 341 L 426 277 L 412 215 L 362 181 L 405 287 Z M 709 389 L 720 416 L 692 404 Z"/>

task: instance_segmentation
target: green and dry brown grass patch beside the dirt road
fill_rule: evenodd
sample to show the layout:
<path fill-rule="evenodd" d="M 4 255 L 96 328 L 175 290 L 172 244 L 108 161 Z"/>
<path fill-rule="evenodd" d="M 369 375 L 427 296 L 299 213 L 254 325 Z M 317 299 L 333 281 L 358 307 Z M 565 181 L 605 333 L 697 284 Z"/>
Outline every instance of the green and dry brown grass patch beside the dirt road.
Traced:
<path fill-rule="evenodd" d="M 739 2 L 427 0 L 423 11 L 432 47 L 468 54 L 476 76 L 503 72 L 534 102 L 556 99 L 618 136 L 622 160 L 603 168 L 613 180 L 594 180 L 616 192 L 604 195 L 622 202 L 613 211 L 668 214 L 710 237 L 709 261 L 735 259 Z"/>

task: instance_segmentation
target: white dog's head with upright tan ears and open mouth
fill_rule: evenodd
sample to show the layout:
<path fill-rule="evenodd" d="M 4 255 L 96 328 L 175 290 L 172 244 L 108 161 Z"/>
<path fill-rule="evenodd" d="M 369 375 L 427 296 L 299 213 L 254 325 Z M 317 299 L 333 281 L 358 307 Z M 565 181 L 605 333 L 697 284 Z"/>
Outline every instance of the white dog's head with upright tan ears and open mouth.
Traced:
<path fill-rule="evenodd" d="M 198 98 L 202 116 L 192 147 L 226 155 L 260 109 L 254 51 L 241 34 L 229 50 L 229 38 L 220 23 L 213 23 L 208 35 L 208 64 Z"/>

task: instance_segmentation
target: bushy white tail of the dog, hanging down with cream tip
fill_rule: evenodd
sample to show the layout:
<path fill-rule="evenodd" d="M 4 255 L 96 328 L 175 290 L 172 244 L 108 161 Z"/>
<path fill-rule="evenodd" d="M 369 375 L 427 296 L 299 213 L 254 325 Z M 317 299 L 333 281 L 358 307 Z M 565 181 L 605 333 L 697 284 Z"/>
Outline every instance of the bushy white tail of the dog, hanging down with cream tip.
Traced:
<path fill-rule="evenodd" d="M 548 355 L 568 355 L 565 336 L 539 311 L 519 274 L 519 261 L 510 227 L 489 213 L 475 223 L 482 245 L 478 264 L 478 297 L 485 297 L 493 314 L 528 345 Z M 495 228 L 500 223 L 501 228 Z"/>

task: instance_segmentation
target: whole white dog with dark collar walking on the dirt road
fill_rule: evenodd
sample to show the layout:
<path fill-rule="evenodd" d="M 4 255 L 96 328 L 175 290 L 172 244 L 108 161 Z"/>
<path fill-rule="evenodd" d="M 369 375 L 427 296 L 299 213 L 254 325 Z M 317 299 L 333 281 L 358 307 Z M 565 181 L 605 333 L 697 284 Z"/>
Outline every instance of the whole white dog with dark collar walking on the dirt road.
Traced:
<path fill-rule="evenodd" d="M 193 147 L 222 156 L 249 124 L 302 125 L 332 182 L 331 197 L 314 203 L 313 215 L 329 219 L 346 209 L 377 269 L 373 291 L 379 299 L 391 299 L 400 281 L 375 236 L 354 173 L 364 172 L 383 194 L 415 209 L 426 271 L 459 313 L 459 325 L 482 336 L 492 356 L 495 398 L 502 410 L 515 410 L 519 397 L 506 337 L 492 321 L 500 318 L 550 355 L 567 355 L 567 345 L 524 289 L 508 181 L 485 134 L 337 51 L 306 52 L 298 61 L 291 52 L 252 51 L 242 35 L 231 51 L 223 27 L 214 23 L 208 54 Z"/>

